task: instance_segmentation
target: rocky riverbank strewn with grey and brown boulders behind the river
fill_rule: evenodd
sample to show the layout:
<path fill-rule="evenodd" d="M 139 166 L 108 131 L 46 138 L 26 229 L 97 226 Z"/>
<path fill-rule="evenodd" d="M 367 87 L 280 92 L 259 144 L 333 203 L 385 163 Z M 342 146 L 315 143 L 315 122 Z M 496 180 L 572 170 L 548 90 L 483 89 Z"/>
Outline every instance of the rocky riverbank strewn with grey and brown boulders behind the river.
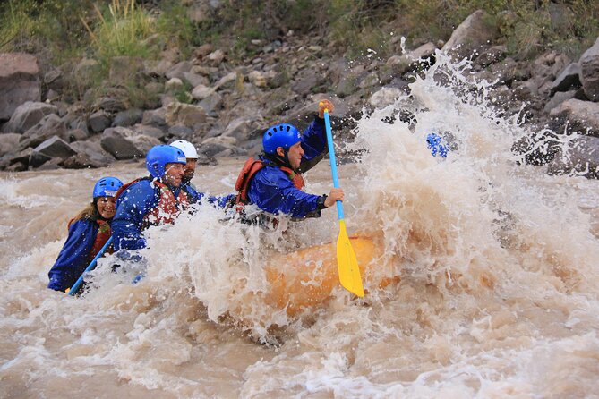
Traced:
<path fill-rule="evenodd" d="M 362 62 L 347 61 L 320 35 L 293 30 L 274 41 L 252 40 L 252 56 L 241 63 L 210 43 L 184 60 L 169 48 L 158 61 L 117 56 L 101 96 L 85 91 L 97 60 L 56 68 L 36 55 L 0 54 L 0 168 L 107 166 L 175 139 L 192 141 L 201 163 L 252 155 L 270 123 L 303 126 L 320 98 L 335 101 L 340 140 L 351 140 L 355 117 L 409 92 L 409 82 L 441 51 L 468 58 L 470 89 L 492 82 L 489 106 L 526 126 L 529 137 L 514 143 L 526 162 L 549 164 L 550 174 L 598 177 L 599 38 L 579 59 L 551 49 L 518 59 L 487 17 L 471 14 L 447 42 L 405 49 L 401 38 L 390 38 L 395 55 L 370 54 Z M 132 99 L 132 82 L 143 98 Z M 81 87 L 81 99 L 69 101 L 67 83 Z"/>

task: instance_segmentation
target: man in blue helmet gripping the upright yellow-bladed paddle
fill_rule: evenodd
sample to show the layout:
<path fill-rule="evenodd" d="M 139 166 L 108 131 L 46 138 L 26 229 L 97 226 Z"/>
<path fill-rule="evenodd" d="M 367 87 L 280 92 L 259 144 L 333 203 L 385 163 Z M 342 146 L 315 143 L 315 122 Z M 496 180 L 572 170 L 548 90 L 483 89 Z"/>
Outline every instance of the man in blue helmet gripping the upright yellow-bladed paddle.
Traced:
<path fill-rule="evenodd" d="M 287 123 L 271 126 L 264 133 L 264 152 L 257 159 L 251 157 L 245 162 L 235 183 L 235 203 L 242 220 L 255 220 L 248 217 L 248 206 L 252 204 L 261 210 L 258 222 L 263 223 L 264 212 L 301 220 L 321 216 L 322 209 L 331 207 L 337 200 L 343 200 L 341 189 L 333 188 L 329 195 L 303 191 L 302 174 L 316 165 L 327 152 L 324 110 L 332 112 L 334 108 L 329 100 L 321 101 L 318 115 L 315 115 L 304 134 Z"/>

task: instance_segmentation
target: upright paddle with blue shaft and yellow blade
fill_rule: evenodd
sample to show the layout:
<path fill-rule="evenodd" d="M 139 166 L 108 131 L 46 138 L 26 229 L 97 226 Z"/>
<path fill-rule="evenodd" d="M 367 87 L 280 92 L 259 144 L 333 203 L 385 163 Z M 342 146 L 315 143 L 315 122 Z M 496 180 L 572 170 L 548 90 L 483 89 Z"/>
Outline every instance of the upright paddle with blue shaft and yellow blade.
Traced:
<path fill-rule="evenodd" d="M 339 178 L 337 175 L 335 149 L 333 149 L 333 132 L 330 129 L 328 109 L 324 110 L 324 123 L 327 128 L 327 143 L 329 145 L 330 170 L 333 174 L 333 186 L 338 188 Z M 347 291 L 355 293 L 359 297 L 363 297 L 364 288 L 362 287 L 360 267 L 358 267 L 358 259 L 355 258 L 354 248 L 352 248 L 349 237 L 347 237 L 346 221 L 343 219 L 343 204 L 339 200 L 337 201 L 337 215 L 339 219 L 339 236 L 337 239 L 339 281 Z"/>

